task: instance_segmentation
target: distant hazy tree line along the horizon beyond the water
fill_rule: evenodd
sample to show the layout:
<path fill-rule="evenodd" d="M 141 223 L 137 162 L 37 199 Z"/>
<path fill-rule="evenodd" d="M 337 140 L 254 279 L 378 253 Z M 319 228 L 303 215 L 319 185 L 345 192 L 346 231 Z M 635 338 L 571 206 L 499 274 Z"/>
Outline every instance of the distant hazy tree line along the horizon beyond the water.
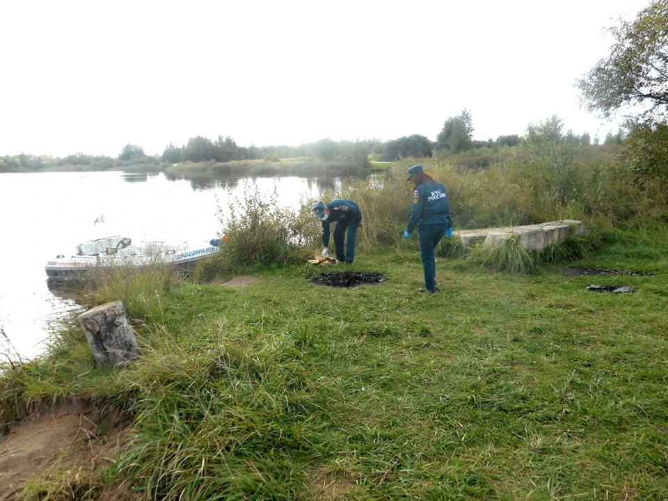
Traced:
<path fill-rule="evenodd" d="M 161 164 L 180 164 L 182 162 L 214 161 L 225 163 L 230 161 L 265 160 L 278 161 L 280 159 L 313 158 L 320 161 L 340 161 L 359 167 L 369 165 L 369 158 L 377 161 L 397 161 L 404 158 L 430 158 L 434 156 L 447 157 L 452 154 L 461 154 L 473 150 L 498 150 L 503 147 L 513 147 L 523 141 L 531 141 L 536 134 L 559 134 L 563 122 L 555 117 L 546 120 L 546 125 L 529 125 L 526 136 L 511 134 L 499 136 L 495 141 L 475 141 L 472 139 L 473 124 L 468 111 L 461 115 L 445 120 L 443 129 L 438 133 L 436 141 L 430 141 L 427 136 L 413 134 L 391 141 L 366 139 L 358 141 L 333 141 L 324 138 L 315 143 L 299 146 L 239 146 L 233 138 L 218 136 L 215 141 L 202 136 L 190 138 L 181 146 L 170 143 L 159 156 L 145 153 L 138 145 L 127 144 L 118 154 L 118 157 L 88 155 L 82 152 L 70 154 L 63 158 L 19 154 L 13 157 L 0 157 L 0 173 L 2 172 L 35 172 L 40 170 L 57 170 L 58 168 L 74 167 L 87 170 L 109 170 L 124 165 L 157 166 Z M 556 129 L 555 129 L 556 127 Z M 548 129 L 552 130 L 548 130 Z M 605 144 L 613 141 L 621 142 L 623 133 L 616 136 L 609 134 Z M 568 131 L 562 141 L 569 145 L 589 145 L 589 135 L 574 136 Z M 595 143 L 598 143 L 595 141 Z"/>

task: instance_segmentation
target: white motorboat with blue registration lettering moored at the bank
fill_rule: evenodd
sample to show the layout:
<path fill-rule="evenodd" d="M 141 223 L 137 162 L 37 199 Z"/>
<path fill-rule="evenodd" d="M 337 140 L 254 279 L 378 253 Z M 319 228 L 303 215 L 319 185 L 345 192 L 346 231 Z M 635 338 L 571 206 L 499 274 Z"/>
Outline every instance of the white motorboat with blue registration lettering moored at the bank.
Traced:
<path fill-rule="evenodd" d="M 168 264 L 183 271 L 194 267 L 198 260 L 215 254 L 221 239 L 202 244 L 166 244 L 141 241 L 136 244 L 128 237 L 104 237 L 85 241 L 76 246 L 72 255 L 57 255 L 47 262 L 49 278 L 81 278 L 92 271 L 127 267 L 143 269 L 156 264 Z"/>

